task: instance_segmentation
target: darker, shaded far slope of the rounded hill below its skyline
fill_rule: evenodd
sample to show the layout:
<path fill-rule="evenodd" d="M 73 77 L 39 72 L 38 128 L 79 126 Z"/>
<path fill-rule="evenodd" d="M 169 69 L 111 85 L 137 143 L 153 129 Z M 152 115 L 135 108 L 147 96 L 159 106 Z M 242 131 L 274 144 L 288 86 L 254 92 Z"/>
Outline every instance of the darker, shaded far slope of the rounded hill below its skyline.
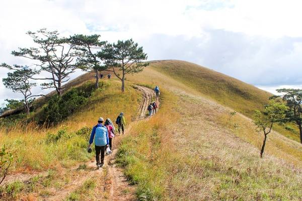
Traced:
<path fill-rule="evenodd" d="M 161 72 L 195 89 L 202 96 L 249 117 L 255 109 L 261 109 L 272 95 L 228 75 L 186 61 L 155 61 L 151 62 L 148 68 Z M 147 76 L 147 71 L 144 73 Z"/>

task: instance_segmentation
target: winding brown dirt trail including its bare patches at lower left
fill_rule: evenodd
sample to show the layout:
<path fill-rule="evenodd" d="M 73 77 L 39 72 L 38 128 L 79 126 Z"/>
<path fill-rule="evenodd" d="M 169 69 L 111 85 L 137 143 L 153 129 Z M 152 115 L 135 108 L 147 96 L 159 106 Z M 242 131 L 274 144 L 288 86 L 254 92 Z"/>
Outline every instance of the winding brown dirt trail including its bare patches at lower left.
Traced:
<path fill-rule="evenodd" d="M 137 111 L 137 117 L 135 121 L 141 121 L 147 118 L 146 111 L 149 103 L 151 103 L 152 98 L 155 97 L 154 91 L 150 88 L 144 86 L 134 85 L 137 90 L 142 93 L 142 100 Z M 156 98 L 157 102 L 158 99 Z M 159 105 L 159 102 L 158 102 Z M 131 128 L 131 123 L 126 127 L 125 134 L 129 132 Z M 79 170 L 79 165 L 83 163 L 78 163 L 69 168 L 60 169 L 60 174 L 63 176 L 65 173 L 72 174 L 72 180 L 66 183 L 60 189 L 50 188 L 49 195 L 42 197 L 42 200 L 63 200 L 68 197 L 68 195 L 79 188 L 87 179 L 96 178 L 98 180 L 97 187 L 95 191 L 100 194 L 102 199 L 110 200 L 136 200 L 135 197 L 135 186 L 129 185 L 127 178 L 124 176 L 122 169 L 117 167 L 115 164 L 115 157 L 117 153 L 116 147 L 120 143 L 123 135 L 118 135 L 113 139 L 113 152 L 111 156 L 105 156 L 104 166 L 100 169 L 96 168 L 95 161 L 85 162 L 86 169 Z M 95 154 L 95 153 L 93 153 Z M 39 173 L 19 173 L 15 175 L 8 175 L 5 179 L 6 183 L 10 183 L 14 180 L 21 180 L 23 182 L 29 181 L 33 176 L 40 175 L 42 177 L 47 176 L 47 171 Z M 41 197 L 38 198 L 41 200 Z"/>

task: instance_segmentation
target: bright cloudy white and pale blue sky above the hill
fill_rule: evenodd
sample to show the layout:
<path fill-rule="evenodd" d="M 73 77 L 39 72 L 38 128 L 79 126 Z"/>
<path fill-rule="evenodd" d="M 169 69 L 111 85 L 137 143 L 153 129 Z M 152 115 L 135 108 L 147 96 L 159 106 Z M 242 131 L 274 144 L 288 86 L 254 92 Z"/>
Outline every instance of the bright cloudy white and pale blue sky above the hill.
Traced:
<path fill-rule="evenodd" d="M 108 42 L 132 38 L 148 60 L 190 61 L 270 92 L 302 87 L 302 1 L 10 0 L 0 8 L 0 63 L 31 65 L 11 52 L 34 45 L 27 31 L 47 28 Z M 7 73 L 1 69 L 0 80 Z M 22 95 L 0 81 L 0 106 L 6 98 Z"/>

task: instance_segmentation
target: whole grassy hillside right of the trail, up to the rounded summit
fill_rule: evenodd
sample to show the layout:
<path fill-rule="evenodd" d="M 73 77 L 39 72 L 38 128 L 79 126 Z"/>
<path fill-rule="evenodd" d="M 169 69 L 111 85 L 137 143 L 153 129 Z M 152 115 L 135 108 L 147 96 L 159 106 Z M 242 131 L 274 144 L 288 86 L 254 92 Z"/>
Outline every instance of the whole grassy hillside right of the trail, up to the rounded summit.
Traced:
<path fill-rule="evenodd" d="M 169 70 L 164 72 L 163 68 Z M 182 71 L 194 72 L 198 68 L 188 62 L 157 61 L 139 76 L 128 77 L 135 83 L 162 88 L 161 113 L 147 125 L 132 127 L 131 136 L 123 141 L 119 154 L 125 174 L 138 184 L 138 197 L 148 197 L 147 200 L 300 200 L 302 146 L 273 132 L 268 137 L 265 157 L 261 159 L 259 146 L 263 136 L 255 131 L 251 119 L 237 114 L 229 122 L 230 112 L 261 108 L 270 94 L 207 69 L 201 68 L 210 78 L 194 77 L 202 75 L 198 72 L 186 77 Z M 182 73 L 175 75 L 174 71 L 179 69 Z M 210 90 L 204 94 L 194 80 L 215 80 L 212 76 L 226 77 L 232 84 L 223 80 L 216 88 L 217 83 L 209 81 L 208 88 L 219 96 Z M 220 98 L 232 94 L 228 92 L 232 88 L 237 88 L 233 96 L 240 101 L 226 97 L 224 106 L 221 105 Z M 243 89 L 247 91 L 242 92 Z M 258 93 L 260 97 L 254 101 Z M 239 107 L 228 105 L 232 101 Z"/>

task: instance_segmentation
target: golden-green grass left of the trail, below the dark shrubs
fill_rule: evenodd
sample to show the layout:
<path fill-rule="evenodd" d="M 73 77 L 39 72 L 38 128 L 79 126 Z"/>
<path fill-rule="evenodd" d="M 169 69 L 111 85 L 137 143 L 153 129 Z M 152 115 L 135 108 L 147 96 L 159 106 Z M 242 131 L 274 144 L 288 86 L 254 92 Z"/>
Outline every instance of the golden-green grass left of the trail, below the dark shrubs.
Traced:
<path fill-rule="evenodd" d="M 118 82 L 108 82 L 108 88 L 95 91 L 87 105 L 56 127 L 36 130 L 33 126 L 26 131 L 16 127 L 9 133 L 5 129 L 1 130 L 0 144 L 6 144 L 15 155 L 13 171 L 41 171 L 57 165 L 70 166 L 88 159 L 87 139 L 74 136 L 66 141 L 49 144 L 45 142 L 47 133 L 56 133 L 62 129 L 71 133 L 83 127 L 92 128 L 99 117 L 111 118 L 115 122 L 120 112 L 124 112 L 127 123 L 130 123 L 138 109 L 140 92 L 127 86 L 126 92 L 121 93 Z"/>

